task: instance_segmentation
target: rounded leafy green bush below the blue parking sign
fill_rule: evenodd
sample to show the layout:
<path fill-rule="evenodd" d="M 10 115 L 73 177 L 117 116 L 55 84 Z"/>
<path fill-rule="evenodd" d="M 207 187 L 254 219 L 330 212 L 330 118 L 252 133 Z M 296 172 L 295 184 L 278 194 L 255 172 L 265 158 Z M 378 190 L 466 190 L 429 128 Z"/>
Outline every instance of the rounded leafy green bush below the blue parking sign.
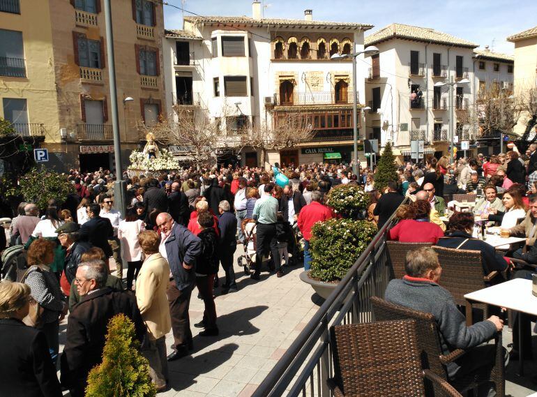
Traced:
<path fill-rule="evenodd" d="M 70 193 L 75 193 L 75 187 L 66 175 L 41 167 L 39 170 L 33 168 L 20 179 L 20 193 L 25 201 L 45 209 L 47 201 L 52 198 L 60 203 L 65 202 Z"/>

